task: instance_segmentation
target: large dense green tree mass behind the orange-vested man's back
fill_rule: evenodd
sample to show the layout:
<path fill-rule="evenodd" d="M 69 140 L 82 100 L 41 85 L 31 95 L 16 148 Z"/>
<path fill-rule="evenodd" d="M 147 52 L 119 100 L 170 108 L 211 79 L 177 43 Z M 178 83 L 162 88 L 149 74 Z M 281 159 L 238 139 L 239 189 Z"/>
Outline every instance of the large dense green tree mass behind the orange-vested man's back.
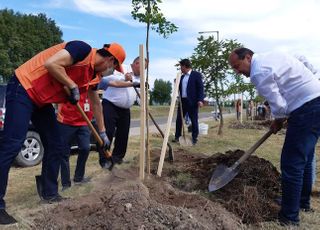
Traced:
<path fill-rule="evenodd" d="M 45 14 L 0 10 L 0 76 L 7 81 L 19 65 L 62 41 L 62 31 Z"/>

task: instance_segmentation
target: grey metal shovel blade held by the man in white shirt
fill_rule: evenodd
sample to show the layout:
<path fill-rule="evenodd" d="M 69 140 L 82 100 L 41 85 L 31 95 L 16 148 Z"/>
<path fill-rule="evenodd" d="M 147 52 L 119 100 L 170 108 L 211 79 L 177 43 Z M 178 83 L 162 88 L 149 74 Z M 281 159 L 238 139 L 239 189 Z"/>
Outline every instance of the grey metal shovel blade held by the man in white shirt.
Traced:
<path fill-rule="evenodd" d="M 225 165 L 218 165 L 217 168 L 214 170 L 210 182 L 209 182 L 209 192 L 216 191 L 236 177 L 239 173 L 239 167 L 232 169 L 228 168 Z"/>

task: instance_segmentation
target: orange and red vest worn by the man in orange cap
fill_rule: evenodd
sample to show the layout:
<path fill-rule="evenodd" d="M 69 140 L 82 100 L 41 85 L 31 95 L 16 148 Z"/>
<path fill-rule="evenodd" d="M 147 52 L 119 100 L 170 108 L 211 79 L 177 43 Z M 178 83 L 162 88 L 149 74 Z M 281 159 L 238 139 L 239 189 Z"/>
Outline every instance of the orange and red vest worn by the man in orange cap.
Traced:
<path fill-rule="evenodd" d="M 52 46 L 25 62 L 15 70 L 15 74 L 21 85 L 27 91 L 32 101 L 39 107 L 48 103 L 64 103 L 67 101 L 63 85 L 50 75 L 44 64 L 48 58 L 64 49 L 66 43 Z M 101 75 L 94 76 L 94 61 L 96 49 L 91 49 L 88 56 L 66 67 L 67 75 L 78 85 L 79 89 L 99 83 Z M 93 77 L 95 77 L 93 79 Z"/>

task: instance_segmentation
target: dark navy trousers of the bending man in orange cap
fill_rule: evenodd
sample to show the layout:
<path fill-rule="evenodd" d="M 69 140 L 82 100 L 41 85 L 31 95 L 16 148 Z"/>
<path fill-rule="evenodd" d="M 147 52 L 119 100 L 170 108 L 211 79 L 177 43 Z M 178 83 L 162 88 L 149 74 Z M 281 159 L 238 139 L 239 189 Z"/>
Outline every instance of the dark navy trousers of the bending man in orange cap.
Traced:
<path fill-rule="evenodd" d="M 18 79 L 13 76 L 7 85 L 6 116 L 3 138 L 0 143 L 0 209 L 5 208 L 10 166 L 21 150 L 26 138 L 30 119 L 40 134 L 44 147 L 42 159 L 43 198 L 58 194 L 58 174 L 62 139 L 52 104 L 37 107 Z"/>

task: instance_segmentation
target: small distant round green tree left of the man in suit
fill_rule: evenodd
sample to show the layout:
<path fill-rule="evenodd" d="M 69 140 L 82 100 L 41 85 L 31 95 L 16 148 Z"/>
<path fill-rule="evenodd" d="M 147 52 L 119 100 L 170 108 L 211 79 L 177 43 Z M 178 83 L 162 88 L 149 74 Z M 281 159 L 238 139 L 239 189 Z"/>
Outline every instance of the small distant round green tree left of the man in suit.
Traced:
<path fill-rule="evenodd" d="M 171 101 L 172 84 L 170 81 L 156 79 L 154 82 L 153 91 L 151 93 L 152 100 L 160 105 L 170 103 Z"/>

